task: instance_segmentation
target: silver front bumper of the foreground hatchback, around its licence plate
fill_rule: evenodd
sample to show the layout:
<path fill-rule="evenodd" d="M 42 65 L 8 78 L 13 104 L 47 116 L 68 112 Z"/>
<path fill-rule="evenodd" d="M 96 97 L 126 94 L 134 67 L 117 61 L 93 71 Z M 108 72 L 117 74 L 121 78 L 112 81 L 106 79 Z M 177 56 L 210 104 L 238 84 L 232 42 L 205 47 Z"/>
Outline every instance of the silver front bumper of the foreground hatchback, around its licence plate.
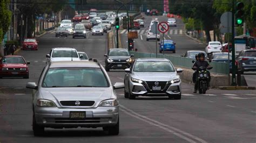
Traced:
<path fill-rule="evenodd" d="M 71 119 L 70 111 L 85 111 L 85 118 Z M 98 107 L 96 109 L 77 108 L 41 108 L 35 107 L 35 119 L 44 127 L 104 127 L 114 126 L 118 122 L 119 106 Z"/>

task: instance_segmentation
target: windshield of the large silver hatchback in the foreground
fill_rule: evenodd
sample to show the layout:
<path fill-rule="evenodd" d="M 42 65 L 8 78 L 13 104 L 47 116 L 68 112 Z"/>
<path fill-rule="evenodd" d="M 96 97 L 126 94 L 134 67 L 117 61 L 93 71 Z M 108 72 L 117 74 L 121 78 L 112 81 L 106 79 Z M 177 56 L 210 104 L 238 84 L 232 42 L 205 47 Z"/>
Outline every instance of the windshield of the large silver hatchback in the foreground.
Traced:
<path fill-rule="evenodd" d="M 43 87 L 109 87 L 100 68 L 50 68 Z"/>

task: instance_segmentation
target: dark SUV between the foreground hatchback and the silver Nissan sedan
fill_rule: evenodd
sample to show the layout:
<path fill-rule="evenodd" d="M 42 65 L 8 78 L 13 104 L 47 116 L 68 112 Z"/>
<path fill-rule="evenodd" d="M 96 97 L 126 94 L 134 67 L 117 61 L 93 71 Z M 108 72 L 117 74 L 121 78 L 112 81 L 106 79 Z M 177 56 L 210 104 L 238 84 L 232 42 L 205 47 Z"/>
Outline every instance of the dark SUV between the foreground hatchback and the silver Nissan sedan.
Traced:
<path fill-rule="evenodd" d="M 109 53 L 104 55 L 105 58 L 105 69 L 126 69 L 130 68 L 133 56 L 127 51 L 127 49 L 113 48 L 109 50 Z"/>

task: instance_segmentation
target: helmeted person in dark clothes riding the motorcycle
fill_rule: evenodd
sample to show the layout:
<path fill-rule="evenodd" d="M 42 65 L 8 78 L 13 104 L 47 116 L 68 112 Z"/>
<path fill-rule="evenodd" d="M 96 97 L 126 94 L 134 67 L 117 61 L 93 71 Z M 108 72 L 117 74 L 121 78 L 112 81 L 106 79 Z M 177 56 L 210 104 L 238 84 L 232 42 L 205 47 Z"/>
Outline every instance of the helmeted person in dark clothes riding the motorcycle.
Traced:
<path fill-rule="evenodd" d="M 207 68 L 207 67 L 210 66 L 209 63 L 207 61 L 205 61 L 205 54 L 204 53 L 199 53 L 198 56 L 199 56 L 199 60 L 194 63 L 194 65 L 193 65 L 194 68 L 199 68 L 201 66 Z M 198 76 L 198 72 L 196 72 L 196 73 L 197 73 L 196 74 L 196 77 L 197 77 Z M 208 77 L 209 77 L 208 80 L 207 80 L 207 89 L 209 89 L 211 76 L 210 76 L 210 72 L 209 71 L 207 71 L 207 74 L 208 74 Z M 198 82 L 195 82 L 195 84 L 194 84 L 194 93 L 197 92 L 197 88 L 198 88 Z"/>

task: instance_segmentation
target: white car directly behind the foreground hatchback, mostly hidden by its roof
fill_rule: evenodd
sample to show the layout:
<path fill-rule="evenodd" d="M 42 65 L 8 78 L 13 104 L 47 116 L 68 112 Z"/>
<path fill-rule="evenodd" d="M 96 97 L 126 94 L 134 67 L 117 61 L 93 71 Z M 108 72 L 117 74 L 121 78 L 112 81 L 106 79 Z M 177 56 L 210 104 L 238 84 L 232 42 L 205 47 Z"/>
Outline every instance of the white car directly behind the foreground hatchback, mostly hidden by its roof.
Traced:
<path fill-rule="evenodd" d="M 80 58 L 75 48 L 58 47 L 46 54 L 46 64 L 52 61 L 80 61 Z"/>

